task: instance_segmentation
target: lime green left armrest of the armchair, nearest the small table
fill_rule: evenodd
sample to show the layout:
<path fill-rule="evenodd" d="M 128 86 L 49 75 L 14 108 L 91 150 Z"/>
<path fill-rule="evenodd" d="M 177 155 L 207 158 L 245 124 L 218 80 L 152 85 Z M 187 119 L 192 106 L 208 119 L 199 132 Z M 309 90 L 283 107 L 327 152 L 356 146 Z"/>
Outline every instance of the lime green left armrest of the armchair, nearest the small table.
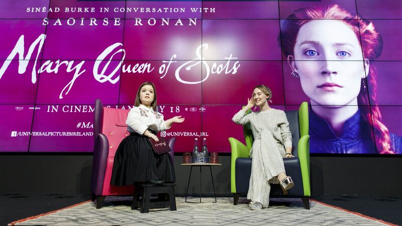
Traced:
<path fill-rule="evenodd" d="M 236 193 L 236 159 L 239 157 L 248 158 L 250 148 L 245 146 L 243 143 L 237 139 L 231 137 L 229 138 L 230 148 L 232 152 L 231 156 L 231 170 L 230 170 L 230 181 L 232 193 Z"/>

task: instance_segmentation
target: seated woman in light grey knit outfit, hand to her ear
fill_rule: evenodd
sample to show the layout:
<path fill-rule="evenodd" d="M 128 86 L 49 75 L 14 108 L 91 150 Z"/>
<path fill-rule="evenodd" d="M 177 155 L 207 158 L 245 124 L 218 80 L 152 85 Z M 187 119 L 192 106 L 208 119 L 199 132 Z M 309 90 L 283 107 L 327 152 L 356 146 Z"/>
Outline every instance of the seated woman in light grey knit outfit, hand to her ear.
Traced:
<path fill-rule="evenodd" d="M 268 207 L 270 183 L 279 183 L 287 194 L 293 187 L 293 181 L 285 174 L 282 157 L 293 157 L 292 136 L 289 131 L 285 112 L 271 108 L 268 104 L 272 91 L 265 85 L 254 88 L 253 97 L 247 99 L 247 106 L 233 116 L 236 124 L 251 124 L 254 143 L 250 150 L 253 158 L 251 166 L 250 185 L 247 199 L 250 199 L 250 209 L 259 210 Z M 253 106 L 259 111 L 246 112 Z"/>

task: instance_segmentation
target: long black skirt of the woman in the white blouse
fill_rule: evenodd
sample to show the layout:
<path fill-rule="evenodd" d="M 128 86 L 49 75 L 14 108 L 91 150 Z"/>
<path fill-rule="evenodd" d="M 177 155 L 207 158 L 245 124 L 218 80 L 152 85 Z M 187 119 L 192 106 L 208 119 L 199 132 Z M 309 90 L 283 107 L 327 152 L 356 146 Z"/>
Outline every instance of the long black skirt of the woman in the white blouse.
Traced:
<path fill-rule="evenodd" d="M 130 133 L 116 151 L 110 184 L 133 185 L 153 179 L 176 180 L 171 156 L 169 153 L 156 154 L 148 137 Z"/>

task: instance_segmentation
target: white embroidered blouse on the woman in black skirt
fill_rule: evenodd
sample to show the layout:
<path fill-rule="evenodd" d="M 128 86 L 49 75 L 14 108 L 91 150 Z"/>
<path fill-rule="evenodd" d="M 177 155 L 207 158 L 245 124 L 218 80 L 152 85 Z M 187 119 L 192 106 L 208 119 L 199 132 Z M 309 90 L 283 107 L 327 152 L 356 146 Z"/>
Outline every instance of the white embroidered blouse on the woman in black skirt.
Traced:
<path fill-rule="evenodd" d="M 155 111 L 152 107 L 148 108 L 140 104 L 138 107 L 131 108 L 126 120 L 127 131 L 130 133 L 144 134 L 149 128 L 156 133 L 165 131 L 166 122 L 163 120 L 163 115 Z"/>

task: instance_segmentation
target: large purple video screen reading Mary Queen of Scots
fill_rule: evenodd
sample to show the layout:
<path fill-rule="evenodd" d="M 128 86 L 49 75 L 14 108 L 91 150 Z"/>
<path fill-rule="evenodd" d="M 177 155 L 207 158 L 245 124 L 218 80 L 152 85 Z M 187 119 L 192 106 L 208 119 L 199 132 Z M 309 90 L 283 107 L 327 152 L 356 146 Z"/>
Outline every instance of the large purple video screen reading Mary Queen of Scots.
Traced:
<path fill-rule="evenodd" d="M 92 152 L 95 99 L 151 81 L 176 152 L 244 142 L 253 89 L 307 101 L 310 152 L 402 153 L 402 1 L 0 2 L 0 152 Z M 258 109 L 257 109 L 258 110 Z"/>

